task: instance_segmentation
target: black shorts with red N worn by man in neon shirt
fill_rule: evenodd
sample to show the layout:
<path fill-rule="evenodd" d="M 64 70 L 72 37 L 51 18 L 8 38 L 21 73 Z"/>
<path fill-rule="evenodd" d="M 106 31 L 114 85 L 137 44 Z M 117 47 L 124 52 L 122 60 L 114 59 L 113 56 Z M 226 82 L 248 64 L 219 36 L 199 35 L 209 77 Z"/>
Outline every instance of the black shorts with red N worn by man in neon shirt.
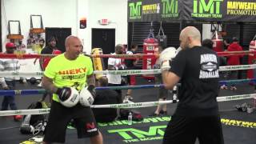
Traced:
<path fill-rule="evenodd" d="M 98 127 L 90 107 L 78 103 L 74 107 L 65 107 L 53 101 L 50 107 L 44 142 L 65 142 L 66 126 L 71 119 L 77 127 L 78 138 L 88 138 L 98 135 Z"/>

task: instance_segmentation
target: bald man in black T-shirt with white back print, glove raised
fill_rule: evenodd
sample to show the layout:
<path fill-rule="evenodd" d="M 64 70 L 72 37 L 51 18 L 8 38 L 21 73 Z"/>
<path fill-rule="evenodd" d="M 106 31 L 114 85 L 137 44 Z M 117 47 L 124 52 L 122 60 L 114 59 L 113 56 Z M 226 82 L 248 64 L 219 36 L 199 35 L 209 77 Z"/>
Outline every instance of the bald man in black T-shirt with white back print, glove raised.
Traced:
<path fill-rule="evenodd" d="M 222 125 L 218 114 L 218 57 L 201 46 L 201 34 L 188 26 L 180 34 L 182 50 L 163 53 L 162 80 L 166 89 L 181 82 L 178 106 L 171 118 L 163 144 L 222 144 Z M 172 51 L 172 50 L 170 50 Z M 170 62 L 170 64 L 169 64 Z"/>

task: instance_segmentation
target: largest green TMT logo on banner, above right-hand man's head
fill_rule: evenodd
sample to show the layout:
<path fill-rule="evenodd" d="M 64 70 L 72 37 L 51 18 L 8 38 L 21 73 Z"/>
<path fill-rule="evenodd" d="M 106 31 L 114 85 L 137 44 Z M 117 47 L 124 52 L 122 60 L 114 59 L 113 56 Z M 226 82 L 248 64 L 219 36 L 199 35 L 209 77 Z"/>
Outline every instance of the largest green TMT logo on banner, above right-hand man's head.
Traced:
<path fill-rule="evenodd" d="M 223 0 L 194 0 L 193 14 L 196 18 L 222 18 L 220 14 L 221 2 Z"/>

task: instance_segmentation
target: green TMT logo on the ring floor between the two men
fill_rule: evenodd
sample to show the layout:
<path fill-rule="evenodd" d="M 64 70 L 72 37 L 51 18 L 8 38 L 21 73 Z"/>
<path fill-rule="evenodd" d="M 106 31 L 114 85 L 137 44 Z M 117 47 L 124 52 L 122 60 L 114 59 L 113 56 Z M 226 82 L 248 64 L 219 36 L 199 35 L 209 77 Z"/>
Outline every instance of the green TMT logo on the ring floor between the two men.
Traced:
<path fill-rule="evenodd" d="M 150 126 L 149 131 L 138 130 L 134 128 L 108 130 L 109 133 L 118 133 L 122 138 L 123 142 L 142 142 L 160 140 L 164 135 L 166 126 Z"/>

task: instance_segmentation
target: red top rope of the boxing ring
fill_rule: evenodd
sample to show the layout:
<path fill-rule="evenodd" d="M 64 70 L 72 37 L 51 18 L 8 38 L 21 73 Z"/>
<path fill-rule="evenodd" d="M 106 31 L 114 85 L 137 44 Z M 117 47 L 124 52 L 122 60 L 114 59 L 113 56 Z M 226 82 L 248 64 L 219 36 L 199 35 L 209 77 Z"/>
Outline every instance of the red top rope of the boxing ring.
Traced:
<path fill-rule="evenodd" d="M 85 54 L 91 58 L 158 58 L 157 54 Z M 230 56 L 230 55 L 245 55 L 245 54 L 256 54 L 256 51 L 253 50 L 244 50 L 244 51 L 223 51 L 218 52 L 218 56 Z M 0 54 L 0 58 L 53 58 L 57 54 Z"/>

